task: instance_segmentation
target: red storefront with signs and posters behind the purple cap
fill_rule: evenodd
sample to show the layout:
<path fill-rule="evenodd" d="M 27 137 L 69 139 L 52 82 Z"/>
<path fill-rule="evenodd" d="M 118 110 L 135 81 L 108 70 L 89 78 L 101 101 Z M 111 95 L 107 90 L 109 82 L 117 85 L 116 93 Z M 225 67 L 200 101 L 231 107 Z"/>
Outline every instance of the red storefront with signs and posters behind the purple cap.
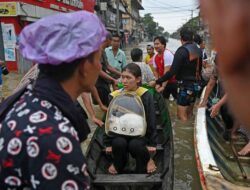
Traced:
<path fill-rule="evenodd" d="M 38 19 L 59 12 L 94 12 L 95 0 L 19 0 L 0 2 L 0 59 L 9 70 L 27 70 L 18 51 L 22 28 Z"/>

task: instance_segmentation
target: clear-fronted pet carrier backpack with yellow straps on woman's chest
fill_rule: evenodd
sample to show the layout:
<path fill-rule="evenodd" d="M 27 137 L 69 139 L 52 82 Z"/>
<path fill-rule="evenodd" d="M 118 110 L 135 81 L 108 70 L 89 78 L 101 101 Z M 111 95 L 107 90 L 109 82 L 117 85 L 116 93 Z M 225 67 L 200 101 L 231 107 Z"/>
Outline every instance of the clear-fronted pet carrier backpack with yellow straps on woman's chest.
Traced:
<path fill-rule="evenodd" d="M 136 91 L 127 92 L 123 89 L 111 93 L 111 101 L 105 122 L 105 132 L 109 136 L 144 136 L 147 123 L 141 96 L 147 91 L 139 87 Z"/>

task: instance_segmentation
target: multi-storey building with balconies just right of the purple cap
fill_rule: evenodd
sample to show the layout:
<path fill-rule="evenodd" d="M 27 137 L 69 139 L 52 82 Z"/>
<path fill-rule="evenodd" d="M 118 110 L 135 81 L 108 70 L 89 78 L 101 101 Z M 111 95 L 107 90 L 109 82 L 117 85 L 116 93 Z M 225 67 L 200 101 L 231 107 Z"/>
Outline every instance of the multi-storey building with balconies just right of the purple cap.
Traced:
<path fill-rule="evenodd" d="M 141 0 L 97 0 L 96 13 L 111 33 L 119 33 L 122 45 L 139 42 L 143 35 L 139 10 Z"/>

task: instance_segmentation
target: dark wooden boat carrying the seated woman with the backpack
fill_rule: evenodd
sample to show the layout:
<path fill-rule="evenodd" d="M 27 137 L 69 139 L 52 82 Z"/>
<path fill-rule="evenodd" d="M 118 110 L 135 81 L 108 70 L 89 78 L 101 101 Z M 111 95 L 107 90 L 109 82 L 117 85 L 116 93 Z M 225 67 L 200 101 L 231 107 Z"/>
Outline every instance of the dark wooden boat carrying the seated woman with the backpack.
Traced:
<path fill-rule="evenodd" d="M 154 96 L 157 117 L 157 151 L 153 159 L 154 174 L 133 174 L 135 161 L 129 157 L 126 174 L 107 173 L 110 157 L 104 152 L 104 128 L 97 128 L 87 150 L 86 159 L 93 190 L 170 190 L 173 189 L 173 134 L 169 112 L 161 94 L 150 89 Z"/>

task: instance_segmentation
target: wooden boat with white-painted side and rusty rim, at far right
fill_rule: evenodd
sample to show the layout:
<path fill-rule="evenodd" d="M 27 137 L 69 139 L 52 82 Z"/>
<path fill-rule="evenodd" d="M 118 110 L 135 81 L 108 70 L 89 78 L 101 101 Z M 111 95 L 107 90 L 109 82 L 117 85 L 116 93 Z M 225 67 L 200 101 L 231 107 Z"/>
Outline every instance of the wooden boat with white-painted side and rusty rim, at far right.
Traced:
<path fill-rule="evenodd" d="M 218 116 L 212 119 L 205 108 L 198 108 L 194 143 L 198 172 L 205 189 L 250 189 L 250 157 L 237 152 L 246 144 L 243 138 L 227 142 L 224 124 Z"/>

